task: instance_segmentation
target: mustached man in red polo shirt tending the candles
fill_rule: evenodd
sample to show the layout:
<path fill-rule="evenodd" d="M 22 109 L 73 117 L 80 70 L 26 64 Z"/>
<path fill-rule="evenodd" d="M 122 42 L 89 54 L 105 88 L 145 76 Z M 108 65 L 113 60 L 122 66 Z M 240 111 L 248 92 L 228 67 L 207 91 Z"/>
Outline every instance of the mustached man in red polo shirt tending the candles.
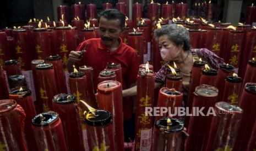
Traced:
<path fill-rule="evenodd" d="M 122 42 L 119 37 L 124 30 L 125 18 L 116 9 L 103 11 L 99 17 L 99 34 L 101 38 L 93 38 L 82 42 L 77 51 L 71 51 L 67 63 L 69 72 L 73 65 L 87 65 L 94 69 L 94 88 L 97 89 L 97 77 L 108 64 L 120 63 L 122 67 L 123 90 L 132 86 L 137 80 L 139 65 L 135 50 Z M 86 49 L 82 54 L 81 50 Z M 124 141 L 134 137 L 132 124 L 132 106 L 130 97 L 123 98 Z"/>

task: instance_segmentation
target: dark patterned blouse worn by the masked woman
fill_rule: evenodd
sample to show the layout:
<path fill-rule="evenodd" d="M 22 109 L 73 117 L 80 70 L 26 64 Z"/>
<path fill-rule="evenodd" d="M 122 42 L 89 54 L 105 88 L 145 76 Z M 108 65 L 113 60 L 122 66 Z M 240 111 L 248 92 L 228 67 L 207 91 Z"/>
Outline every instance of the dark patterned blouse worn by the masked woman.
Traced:
<path fill-rule="evenodd" d="M 215 69 L 219 68 L 219 65 L 224 63 L 223 59 L 221 59 L 219 56 L 215 55 L 213 52 L 211 52 L 208 49 L 205 49 L 205 48 L 191 49 L 190 51 L 193 56 L 193 62 L 198 61 L 201 58 L 203 61 L 208 62 L 208 65 L 211 68 L 215 68 Z M 162 83 L 162 84 L 165 83 L 166 73 L 168 69 L 167 64 L 172 65 L 172 62 L 167 62 L 164 66 L 161 67 L 161 69 L 157 73 L 155 73 L 156 83 Z M 187 102 L 188 92 L 189 92 L 189 88 L 183 85 L 183 101 L 185 102 Z"/>

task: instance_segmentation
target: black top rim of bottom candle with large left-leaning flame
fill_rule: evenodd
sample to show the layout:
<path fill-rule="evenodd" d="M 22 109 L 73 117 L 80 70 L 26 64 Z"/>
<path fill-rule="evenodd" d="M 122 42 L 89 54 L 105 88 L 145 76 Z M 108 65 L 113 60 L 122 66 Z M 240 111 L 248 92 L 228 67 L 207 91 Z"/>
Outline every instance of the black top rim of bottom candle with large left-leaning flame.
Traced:
<path fill-rule="evenodd" d="M 104 126 L 112 123 L 112 115 L 103 109 L 97 109 L 95 112 L 88 112 L 85 115 L 85 123 L 90 126 Z"/>

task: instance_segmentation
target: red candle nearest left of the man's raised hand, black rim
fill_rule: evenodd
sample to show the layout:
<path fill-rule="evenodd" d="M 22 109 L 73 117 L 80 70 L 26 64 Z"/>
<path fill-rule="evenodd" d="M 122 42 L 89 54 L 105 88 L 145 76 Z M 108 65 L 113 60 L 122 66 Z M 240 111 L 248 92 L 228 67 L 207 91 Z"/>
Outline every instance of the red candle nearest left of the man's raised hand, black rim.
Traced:
<path fill-rule="evenodd" d="M 48 56 L 46 57 L 46 62 L 52 63 L 53 69 L 55 71 L 55 79 L 57 84 L 57 93 L 67 93 L 66 80 L 64 77 L 64 71 L 62 67 L 61 56 Z"/>

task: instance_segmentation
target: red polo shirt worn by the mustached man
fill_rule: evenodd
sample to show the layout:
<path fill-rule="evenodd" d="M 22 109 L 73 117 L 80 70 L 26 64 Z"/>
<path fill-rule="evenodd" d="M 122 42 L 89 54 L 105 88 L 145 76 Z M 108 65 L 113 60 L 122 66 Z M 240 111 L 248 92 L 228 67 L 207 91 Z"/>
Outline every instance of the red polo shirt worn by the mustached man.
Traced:
<path fill-rule="evenodd" d="M 83 55 L 83 59 L 78 62 L 79 66 L 87 65 L 94 69 L 94 88 L 97 89 L 98 76 L 102 70 L 106 68 L 108 64 L 120 63 L 122 67 L 122 86 L 123 90 L 127 89 L 129 84 L 135 83 L 137 80 L 137 74 L 139 71 L 139 65 L 137 60 L 137 54 L 135 50 L 122 42 L 121 38 L 118 38 L 120 42 L 117 50 L 110 53 L 104 44 L 102 44 L 100 38 L 92 38 L 85 40 L 79 44 L 77 50 L 81 51 L 85 49 L 85 45 L 88 44 L 86 52 Z M 123 97 L 123 116 L 124 120 L 132 118 L 132 105 L 133 102 L 130 97 Z"/>

